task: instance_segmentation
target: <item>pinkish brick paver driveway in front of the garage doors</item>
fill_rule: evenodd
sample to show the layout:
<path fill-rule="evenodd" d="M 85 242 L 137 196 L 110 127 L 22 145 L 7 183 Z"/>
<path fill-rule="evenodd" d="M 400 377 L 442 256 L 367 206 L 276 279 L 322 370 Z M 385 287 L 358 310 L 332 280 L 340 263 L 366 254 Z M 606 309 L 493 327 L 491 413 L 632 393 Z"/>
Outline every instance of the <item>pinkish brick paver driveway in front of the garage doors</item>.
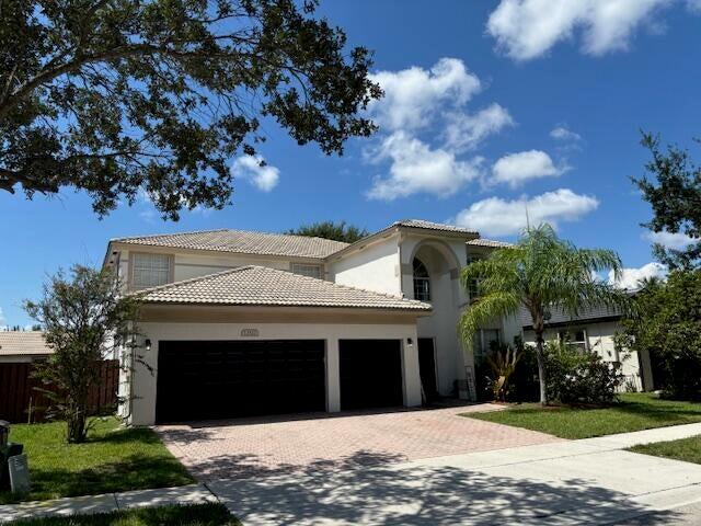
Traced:
<path fill-rule="evenodd" d="M 197 422 L 157 431 L 200 480 L 310 473 L 560 441 L 459 416 L 490 409 L 495 407 L 319 413 Z"/>

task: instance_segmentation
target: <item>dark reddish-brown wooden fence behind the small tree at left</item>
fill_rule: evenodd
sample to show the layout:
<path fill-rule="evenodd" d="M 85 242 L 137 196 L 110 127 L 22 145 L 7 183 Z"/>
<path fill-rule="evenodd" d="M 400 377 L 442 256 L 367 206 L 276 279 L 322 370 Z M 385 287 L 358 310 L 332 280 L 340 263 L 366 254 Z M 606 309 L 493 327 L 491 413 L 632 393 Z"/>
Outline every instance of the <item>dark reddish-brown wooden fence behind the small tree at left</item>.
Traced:
<path fill-rule="evenodd" d="M 92 414 L 111 412 L 117 405 L 119 362 L 106 359 L 100 367 L 100 382 L 90 390 L 89 407 Z M 13 423 L 43 422 L 49 403 L 45 393 L 35 388 L 51 390 L 32 378 L 31 363 L 0 363 L 0 420 Z"/>

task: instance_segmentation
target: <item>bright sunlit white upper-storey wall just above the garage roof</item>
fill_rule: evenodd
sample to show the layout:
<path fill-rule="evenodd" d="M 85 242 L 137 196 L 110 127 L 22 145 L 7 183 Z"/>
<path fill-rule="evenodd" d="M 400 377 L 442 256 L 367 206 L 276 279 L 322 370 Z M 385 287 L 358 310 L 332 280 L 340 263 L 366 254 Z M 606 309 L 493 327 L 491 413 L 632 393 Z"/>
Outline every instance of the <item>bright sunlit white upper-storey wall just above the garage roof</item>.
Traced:
<path fill-rule="evenodd" d="M 399 248 L 391 237 L 329 263 L 330 279 L 341 285 L 401 296 Z"/>

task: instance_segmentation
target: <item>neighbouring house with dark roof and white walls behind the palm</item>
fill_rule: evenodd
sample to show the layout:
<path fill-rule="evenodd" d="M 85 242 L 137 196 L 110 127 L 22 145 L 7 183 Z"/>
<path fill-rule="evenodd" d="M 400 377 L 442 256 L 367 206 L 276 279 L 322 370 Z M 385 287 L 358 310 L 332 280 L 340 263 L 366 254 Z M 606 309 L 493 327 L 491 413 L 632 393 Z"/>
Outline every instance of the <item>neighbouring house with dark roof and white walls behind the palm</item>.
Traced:
<path fill-rule="evenodd" d="M 620 331 L 621 313 L 606 306 L 589 307 L 575 318 L 554 309 L 545 322 L 543 339 L 563 341 L 583 351 L 599 354 L 607 362 L 620 362 L 625 376 L 621 390 L 648 391 L 653 389 L 653 373 L 647 352 L 618 351 L 613 336 Z M 530 313 L 521 310 L 524 342 L 536 343 Z"/>

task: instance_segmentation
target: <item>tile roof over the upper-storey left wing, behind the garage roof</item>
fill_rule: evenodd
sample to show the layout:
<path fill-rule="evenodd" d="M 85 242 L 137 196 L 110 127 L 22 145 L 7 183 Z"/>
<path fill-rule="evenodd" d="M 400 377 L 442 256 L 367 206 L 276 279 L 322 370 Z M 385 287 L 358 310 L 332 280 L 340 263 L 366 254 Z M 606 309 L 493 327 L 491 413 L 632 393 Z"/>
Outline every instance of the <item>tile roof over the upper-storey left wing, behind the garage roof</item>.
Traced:
<path fill-rule="evenodd" d="M 118 238 L 112 241 L 150 247 L 173 247 L 179 249 L 312 258 L 320 260 L 348 245 L 348 243 L 323 238 L 231 229 Z"/>

